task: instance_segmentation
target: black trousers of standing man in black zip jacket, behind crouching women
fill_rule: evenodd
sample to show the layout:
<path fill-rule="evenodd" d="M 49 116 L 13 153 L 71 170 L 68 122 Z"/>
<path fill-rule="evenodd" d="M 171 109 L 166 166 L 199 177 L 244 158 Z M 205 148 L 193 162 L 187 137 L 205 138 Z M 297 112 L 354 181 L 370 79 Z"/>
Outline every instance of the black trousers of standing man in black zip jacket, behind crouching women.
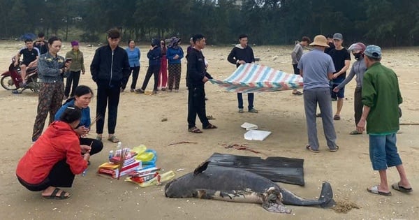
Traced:
<path fill-rule="evenodd" d="M 98 81 L 98 95 L 96 103 L 96 133 L 103 133 L 103 125 L 105 124 L 106 106 L 108 106 L 108 133 L 115 133 L 117 126 L 119 94 L 121 83 L 109 81 Z"/>

